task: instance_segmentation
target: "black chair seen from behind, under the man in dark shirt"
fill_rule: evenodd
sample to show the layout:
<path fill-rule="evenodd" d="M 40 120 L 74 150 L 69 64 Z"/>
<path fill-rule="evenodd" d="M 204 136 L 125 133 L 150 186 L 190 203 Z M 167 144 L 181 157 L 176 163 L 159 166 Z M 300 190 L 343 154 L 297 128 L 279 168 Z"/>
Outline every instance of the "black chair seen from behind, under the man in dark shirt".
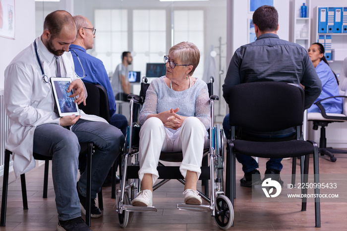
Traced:
<path fill-rule="evenodd" d="M 303 182 L 308 182 L 309 155 L 313 154 L 314 182 L 319 182 L 318 146 L 302 140 L 304 92 L 300 86 L 282 82 L 253 82 L 235 85 L 230 90 L 229 109 L 231 139 L 227 147 L 226 195 L 235 197 L 235 154 L 261 158 L 292 158 L 304 160 Z M 293 136 L 279 139 L 247 137 L 242 129 L 257 133 L 296 128 Z M 304 158 L 303 158 L 304 157 Z M 294 163 L 293 163 L 294 166 Z M 295 174 L 295 172 L 293 172 Z M 307 188 L 302 191 L 307 193 Z M 319 188 L 314 189 L 319 194 Z M 302 199 L 301 211 L 306 211 Z M 320 199 L 315 198 L 315 226 L 320 227 Z"/>

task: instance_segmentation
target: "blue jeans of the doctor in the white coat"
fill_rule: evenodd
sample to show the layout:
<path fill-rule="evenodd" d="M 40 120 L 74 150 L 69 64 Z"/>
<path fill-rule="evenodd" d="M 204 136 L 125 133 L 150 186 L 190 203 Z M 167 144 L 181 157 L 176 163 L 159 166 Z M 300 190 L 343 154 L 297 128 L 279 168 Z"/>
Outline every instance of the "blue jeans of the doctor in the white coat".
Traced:
<path fill-rule="evenodd" d="M 109 169 L 123 146 L 124 136 L 108 123 L 79 119 L 71 131 L 55 123 L 42 124 L 34 132 L 35 153 L 52 156 L 52 176 L 56 193 L 58 219 L 65 221 L 81 216 L 76 190 L 79 142 L 93 141 L 97 147 L 92 158 L 92 198 L 100 191 Z M 87 175 L 78 181 L 86 196 Z"/>

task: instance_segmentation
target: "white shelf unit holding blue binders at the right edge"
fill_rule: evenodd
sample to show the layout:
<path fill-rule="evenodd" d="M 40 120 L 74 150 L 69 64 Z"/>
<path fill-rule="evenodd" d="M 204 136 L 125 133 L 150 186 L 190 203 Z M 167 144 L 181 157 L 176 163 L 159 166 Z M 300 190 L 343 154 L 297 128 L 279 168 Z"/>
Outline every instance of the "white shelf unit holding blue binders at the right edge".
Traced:
<path fill-rule="evenodd" d="M 338 6 L 316 6 L 313 9 L 312 22 L 312 42 L 318 42 L 319 35 L 331 35 L 331 49 L 347 49 L 347 33 L 318 33 L 318 14 L 320 7 L 347 7 L 346 5 Z M 333 55 L 333 54 L 332 54 Z M 334 58 L 334 55 L 332 56 Z M 347 54 L 346 54 L 347 57 Z M 343 60 L 329 60 L 329 62 L 342 62 Z"/>

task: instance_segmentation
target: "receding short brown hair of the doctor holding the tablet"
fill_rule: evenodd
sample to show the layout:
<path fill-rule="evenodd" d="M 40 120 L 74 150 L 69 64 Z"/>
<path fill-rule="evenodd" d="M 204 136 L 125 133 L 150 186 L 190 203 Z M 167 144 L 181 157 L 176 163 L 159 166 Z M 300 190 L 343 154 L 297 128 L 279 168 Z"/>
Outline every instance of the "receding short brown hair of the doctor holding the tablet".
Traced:
<path fill-rule="evenodd" d="M 45 18 L 44 30 L 48 30 L 52 38 L 56 38 L 64 26 L 76 28 L 72 15 L 65 10 L 53 11 Z"/>

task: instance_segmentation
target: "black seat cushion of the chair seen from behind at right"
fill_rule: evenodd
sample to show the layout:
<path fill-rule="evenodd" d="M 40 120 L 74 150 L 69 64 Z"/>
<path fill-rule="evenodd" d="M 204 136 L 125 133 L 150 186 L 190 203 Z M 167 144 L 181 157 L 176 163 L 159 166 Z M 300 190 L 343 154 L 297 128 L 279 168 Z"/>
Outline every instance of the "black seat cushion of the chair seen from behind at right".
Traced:
<path fill-rule="evenodd" d="M 235 153 L 254 157 L 288 158 L 303 156 L 314 152 L 313 145 L 303 140 L 290 140 L 284 142 L 234 140 L 232 143 Z"/>

